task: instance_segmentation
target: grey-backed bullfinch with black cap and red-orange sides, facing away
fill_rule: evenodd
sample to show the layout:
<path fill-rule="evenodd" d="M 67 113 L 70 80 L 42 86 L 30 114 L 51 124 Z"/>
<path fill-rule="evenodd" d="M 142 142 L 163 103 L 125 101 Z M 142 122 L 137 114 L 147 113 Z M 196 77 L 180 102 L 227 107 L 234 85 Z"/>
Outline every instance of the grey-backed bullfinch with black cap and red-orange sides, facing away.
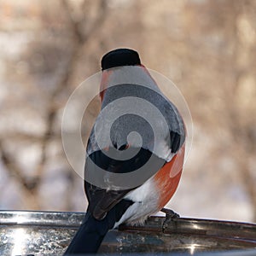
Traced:
<path fill-rule="evenodd" d="M 143 224 L 177 189 L 186 129 L 137 51 L 102 57 L 102 107 L 86 148 L 87 212 L 65 254 L 96 253 L 108 230 Z"/>

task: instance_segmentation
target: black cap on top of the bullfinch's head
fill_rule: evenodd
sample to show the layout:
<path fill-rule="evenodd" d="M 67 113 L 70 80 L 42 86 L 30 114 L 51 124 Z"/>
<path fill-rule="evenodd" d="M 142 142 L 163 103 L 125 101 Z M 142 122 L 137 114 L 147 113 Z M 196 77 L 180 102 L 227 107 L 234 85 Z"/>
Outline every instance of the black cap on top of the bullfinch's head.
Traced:
<path fill-rule="evenodd" d="M 102 70 L 134 65 L 141 65 L 141 60 L 137 51 L 133 49 L 113 49 L 102 57 Z"/>

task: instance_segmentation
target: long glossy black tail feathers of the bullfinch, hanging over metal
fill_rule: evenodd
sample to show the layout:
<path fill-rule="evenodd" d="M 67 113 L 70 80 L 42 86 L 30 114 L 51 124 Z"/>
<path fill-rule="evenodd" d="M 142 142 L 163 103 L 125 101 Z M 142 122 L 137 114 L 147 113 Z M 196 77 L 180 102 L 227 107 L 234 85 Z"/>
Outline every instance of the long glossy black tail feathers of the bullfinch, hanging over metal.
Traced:
<path fill-rule="evenodd" d="M 131 204 L 132 201 L 120 201 L 102 220 L 97 220 L 90 212 L 87 212 L 84 216 L 83 223 L 73 237 L 73 241 L 70 243 L 69 247 L 67 247 L 67 251 L 64 255 L 96 253 L 101 246 L 104 236 L 108 233 L 108 230 L 113 229 L 113 225 L 119 221 Z"/>

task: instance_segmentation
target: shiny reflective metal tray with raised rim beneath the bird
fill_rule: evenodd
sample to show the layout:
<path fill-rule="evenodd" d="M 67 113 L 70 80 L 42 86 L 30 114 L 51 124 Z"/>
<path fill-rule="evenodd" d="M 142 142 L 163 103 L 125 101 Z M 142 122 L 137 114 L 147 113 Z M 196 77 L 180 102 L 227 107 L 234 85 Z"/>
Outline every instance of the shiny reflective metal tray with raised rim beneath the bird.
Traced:
<path fill-rule="evenodd" d="M 83 216 L 79 212 L 0 211 L 0 255 L 61 255 Z M 112 230 L 102 242 L 100 252 L 214 255 L 227 251 L 235 255 L 233 250 L 242 250 L 237 255 L 246 255 L 245 249 L 251 249 L 247 255 L 256 255 L 255 224 L 177 218 L 168 223 L 163 233 L 164 220 L 152 217 L 142 227 Z"/>

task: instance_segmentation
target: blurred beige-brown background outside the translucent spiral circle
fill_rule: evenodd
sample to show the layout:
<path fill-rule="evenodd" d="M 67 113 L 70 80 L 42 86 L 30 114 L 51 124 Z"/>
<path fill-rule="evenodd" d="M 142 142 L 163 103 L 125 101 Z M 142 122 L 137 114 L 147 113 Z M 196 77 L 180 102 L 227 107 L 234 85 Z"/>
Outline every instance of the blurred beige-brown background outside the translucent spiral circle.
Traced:
<path fill-rule="evenodd" d="M 62 113 L 119 47 L 137 49 L 189 104 L 193 146 L 168 207 L 256 222 L 253 0 L 0 0 L 0 209 L 84 212 Z"/>

